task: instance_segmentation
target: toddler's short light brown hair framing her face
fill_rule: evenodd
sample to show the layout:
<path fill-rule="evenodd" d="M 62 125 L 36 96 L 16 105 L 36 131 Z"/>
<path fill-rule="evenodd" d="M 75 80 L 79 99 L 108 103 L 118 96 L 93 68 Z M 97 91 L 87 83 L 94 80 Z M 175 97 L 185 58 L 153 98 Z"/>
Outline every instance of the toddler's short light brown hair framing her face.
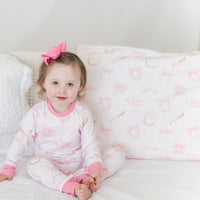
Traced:
<path fill-rule="evenodd" d="M 66 64 L 70 65 L 73 67 L 79 67 L 80 72 L 81 72 L 81 84 L 80 84 L 80 89 L 77 94 L 77 99 L 80 100 L 82 97 L 85 96 L 85 90 L 86 90 L 86 82 L 87 82 L 87 71 L 84 63 L 82 60 L 74 53 L 71 52 L 62 52 L 60 56 L 53 60 L 51 59 L 49 65 L 47 66 L 44 61 L 42 61 L 40 67 L 39 67 L 39 77 L 37 80 L 37 85 L 39 85 L 40 89 L 38 91 L 38 95 L 40 98 L 44 99 L 45 98 L 45 93 L 46 90 L 43 86 L 45 78 L 49 72 L 49 70 L 52 68 L 54 63 L 61 63 L 61 64 Z"/>

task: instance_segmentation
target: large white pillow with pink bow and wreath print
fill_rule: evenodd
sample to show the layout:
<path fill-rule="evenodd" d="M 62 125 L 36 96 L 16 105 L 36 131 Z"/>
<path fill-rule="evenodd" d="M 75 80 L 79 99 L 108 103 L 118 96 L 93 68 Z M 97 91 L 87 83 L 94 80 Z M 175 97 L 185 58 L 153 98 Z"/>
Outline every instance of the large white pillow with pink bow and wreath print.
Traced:
<path fill-rule="evenodd" d="M 200 160 L 200 52 L 81 45 L 102 148 L 127 158 Z"/>

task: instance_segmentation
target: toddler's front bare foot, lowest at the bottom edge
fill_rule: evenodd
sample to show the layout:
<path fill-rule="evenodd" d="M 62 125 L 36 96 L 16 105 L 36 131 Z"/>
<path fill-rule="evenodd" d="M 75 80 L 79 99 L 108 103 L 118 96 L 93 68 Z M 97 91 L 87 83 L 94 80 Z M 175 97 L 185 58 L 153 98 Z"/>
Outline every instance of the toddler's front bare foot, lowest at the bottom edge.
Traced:
<path fill-rule="evenodd" d="M 88 187 L 84 184 L 79 183 L 75 185 L 75 194 L 79 198 L 79 200 L 88 200 L 92 196 L 92 193 L 90 192 Z"/>

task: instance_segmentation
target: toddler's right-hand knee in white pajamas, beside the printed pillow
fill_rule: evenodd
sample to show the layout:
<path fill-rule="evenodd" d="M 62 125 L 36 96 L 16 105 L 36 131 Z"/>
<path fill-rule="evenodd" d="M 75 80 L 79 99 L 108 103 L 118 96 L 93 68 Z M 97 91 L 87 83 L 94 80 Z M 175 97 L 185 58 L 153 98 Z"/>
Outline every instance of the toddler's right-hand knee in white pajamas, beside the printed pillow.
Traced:
<path fill-rule="evenodd" d="M 102 153 L 103 171 L 101 180 L 116 173 L 124 164 L 125 159 L 125 152 L 122 149 L 117 147 L 106 149 Z"/>

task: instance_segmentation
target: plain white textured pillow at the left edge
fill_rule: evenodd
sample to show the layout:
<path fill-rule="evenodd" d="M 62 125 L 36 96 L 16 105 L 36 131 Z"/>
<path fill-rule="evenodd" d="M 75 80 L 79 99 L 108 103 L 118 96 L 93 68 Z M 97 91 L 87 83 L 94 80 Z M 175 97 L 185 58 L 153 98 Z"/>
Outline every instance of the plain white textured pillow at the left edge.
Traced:
<path fill-rule="evenodd" d="M 0 55 L 0 155 L 7 152 L 29 108 L 26 91 L 31 84 L 31 69 L 14 56 Z"/>

